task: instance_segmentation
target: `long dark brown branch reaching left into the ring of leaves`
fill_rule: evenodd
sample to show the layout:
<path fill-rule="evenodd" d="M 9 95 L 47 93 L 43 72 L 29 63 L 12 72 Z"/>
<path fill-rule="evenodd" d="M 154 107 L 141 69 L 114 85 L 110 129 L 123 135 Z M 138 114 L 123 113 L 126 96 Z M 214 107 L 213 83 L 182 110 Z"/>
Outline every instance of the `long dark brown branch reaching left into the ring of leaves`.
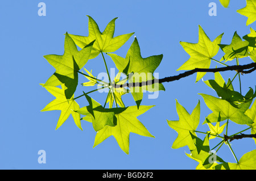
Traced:
<path fill-rule="evenodd" d="M 226 66 L 223 68 L 214 68 L 214 69 L 200 69 L 196 68 L 193 70 L 185 71 L 184 73 L 181 73 L 179 75 L 174 75 L 162 79 L 153 79 L 152 81 L 146 81 L 146 82 L 138 82 L 138 83 L 125 83 L 123 85 L 115 85 L 117 88 L 121 87 L 141 87 L 141 86 L 147 86 L 152 85 L 154 83 L 163 83 L 163 82 L 172 82 L 177 81 L 181 78 L 188 77 L 189 75 L 192 75 L 197 72 L 212 72 L 216 73 L 219 71 L 228 71 L 228 70 L 235 70 L 241 74 L 248 74 L 256 70 L 256 63 L 246 64 L 246 65 L 233 65 L 233 66 Z"/>

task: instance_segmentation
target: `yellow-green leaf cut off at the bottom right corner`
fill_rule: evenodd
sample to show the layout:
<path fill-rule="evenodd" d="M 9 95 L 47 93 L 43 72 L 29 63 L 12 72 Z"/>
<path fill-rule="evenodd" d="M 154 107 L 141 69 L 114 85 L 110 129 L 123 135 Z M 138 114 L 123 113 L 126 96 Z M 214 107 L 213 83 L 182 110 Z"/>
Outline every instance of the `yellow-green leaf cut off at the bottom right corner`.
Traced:
<path fill-rule="evenodd" d="M 255 170 L 256 150 L 249 151 L 242 155 L 238 163 L 222 163 L 215 166 L 216 170 Z"/>

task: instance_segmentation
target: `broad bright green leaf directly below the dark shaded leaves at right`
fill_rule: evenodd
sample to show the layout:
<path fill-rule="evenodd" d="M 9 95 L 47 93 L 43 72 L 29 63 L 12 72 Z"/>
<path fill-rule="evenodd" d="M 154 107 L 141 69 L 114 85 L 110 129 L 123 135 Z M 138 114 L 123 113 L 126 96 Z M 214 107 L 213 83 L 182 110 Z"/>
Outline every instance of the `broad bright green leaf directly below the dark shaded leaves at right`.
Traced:
<path fill-rule="evenodd" d="M 244 112 L 238 108 L 233 107 L 228 101 L 215 98 L 211 95 L 199 94 L 204 98 L 205 104 L 213 111 L 208 115 L 208 119 L 211 123 L 217 122 L 219 115 L 221 121 L 229 119 L 237 124 L 251 124 L 253 121 L 250 117 L 246 116 Z"/>

